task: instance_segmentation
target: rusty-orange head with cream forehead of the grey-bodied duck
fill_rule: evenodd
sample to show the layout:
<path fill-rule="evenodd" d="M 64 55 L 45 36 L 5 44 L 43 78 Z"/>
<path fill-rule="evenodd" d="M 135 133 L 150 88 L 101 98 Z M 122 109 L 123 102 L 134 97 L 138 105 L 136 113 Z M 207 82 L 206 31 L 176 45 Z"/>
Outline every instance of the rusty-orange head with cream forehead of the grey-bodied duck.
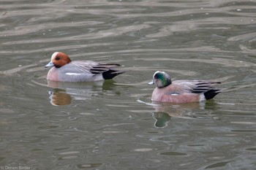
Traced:
<path fill-rule="evenodd" d="M 67 54 L 55 52 L 53 55 L 51 55 L 50 63 L 45 65 L 45 67 L 55 66 L 56 68 L 60 68 L 61 66 L 64 66 L 70 62 L 71 60 Z"/>

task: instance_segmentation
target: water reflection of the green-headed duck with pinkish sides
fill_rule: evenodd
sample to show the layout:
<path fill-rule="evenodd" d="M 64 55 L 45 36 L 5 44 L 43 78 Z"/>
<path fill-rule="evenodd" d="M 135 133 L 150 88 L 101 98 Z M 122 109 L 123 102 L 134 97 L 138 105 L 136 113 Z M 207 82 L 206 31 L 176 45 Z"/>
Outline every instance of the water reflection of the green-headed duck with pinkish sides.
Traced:
<path fill-rule="evenodd" d="M 211 119 L 208 110 L 215 106 L 214 101 L 192 102 L 187 104 L 153 104 L 155 111 L 153 117 L 156 120 L 156 128 L 165 128 L 170 122 L 171 117 L 180 117 L 185 119 Z"/>

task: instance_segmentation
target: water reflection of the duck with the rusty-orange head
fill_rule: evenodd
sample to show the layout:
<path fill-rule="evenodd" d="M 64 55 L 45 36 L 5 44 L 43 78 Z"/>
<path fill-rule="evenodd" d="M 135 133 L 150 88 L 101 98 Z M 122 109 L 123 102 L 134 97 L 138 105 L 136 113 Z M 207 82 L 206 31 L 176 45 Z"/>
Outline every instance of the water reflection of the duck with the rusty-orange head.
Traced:
<path fill-rule="evenodd" d="M 97 91 L 108 90 L 113 87 L 113 80 L 97 82 L 55 82 L 48 80 L 50 103 L 53 106 L 68 105 L 72 100 L 86 101 Z"/>

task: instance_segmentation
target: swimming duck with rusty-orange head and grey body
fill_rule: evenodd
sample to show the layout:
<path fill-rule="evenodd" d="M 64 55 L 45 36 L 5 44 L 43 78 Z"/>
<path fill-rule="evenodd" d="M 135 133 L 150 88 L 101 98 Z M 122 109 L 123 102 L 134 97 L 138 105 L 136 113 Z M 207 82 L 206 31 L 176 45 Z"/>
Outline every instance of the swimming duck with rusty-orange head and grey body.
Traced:
<path fill-rule="evenodd" d="M 71 61 L 65 53 L 53 53 L 45 67 L 52 67 L 47 79 L 58 82 L 88 82 L 109 80 L 124 73 L 113 69 L 120 66 L 117 63 L 97 63 L 94 61 Z"/>

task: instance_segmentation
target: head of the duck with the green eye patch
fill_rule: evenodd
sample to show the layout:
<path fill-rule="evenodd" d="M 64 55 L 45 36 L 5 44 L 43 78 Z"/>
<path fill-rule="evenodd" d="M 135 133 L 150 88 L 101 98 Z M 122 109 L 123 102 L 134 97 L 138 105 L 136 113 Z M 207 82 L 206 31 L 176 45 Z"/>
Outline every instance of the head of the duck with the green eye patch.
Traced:
<path fill-rule="evenodd" d="M 165 88 L 171 83 L 172 81 L 170 80 L 170 76 L 167 73 L 157 71 L 153 75 L 153 80 L 151 82 L 148 82 L 148 85 L 156 84 L 157 88 Z"/>

